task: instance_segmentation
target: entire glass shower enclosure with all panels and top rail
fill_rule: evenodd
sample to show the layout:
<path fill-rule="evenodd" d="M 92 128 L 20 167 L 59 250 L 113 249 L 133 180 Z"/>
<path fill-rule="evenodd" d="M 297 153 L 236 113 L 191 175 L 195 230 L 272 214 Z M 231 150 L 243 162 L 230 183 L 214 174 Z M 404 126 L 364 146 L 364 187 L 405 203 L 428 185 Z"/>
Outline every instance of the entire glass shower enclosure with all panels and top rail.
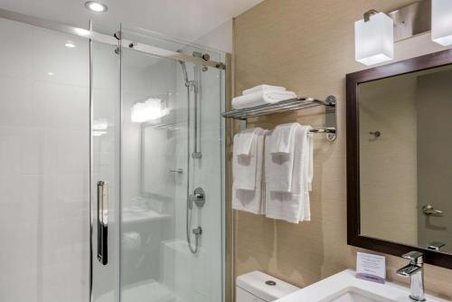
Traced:
<path fill-rule="evenodd" d="M 224 301 L 227 54 L 3 9 L 0 37 L 0 300 Z"/>

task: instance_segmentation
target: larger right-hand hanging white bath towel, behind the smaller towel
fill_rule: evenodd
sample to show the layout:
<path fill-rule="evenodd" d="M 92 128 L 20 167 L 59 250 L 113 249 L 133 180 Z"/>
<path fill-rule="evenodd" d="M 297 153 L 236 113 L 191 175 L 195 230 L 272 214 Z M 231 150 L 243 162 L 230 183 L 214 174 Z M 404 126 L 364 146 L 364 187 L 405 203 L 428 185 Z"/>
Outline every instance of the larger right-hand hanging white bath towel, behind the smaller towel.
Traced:
<path fill-rule="evenodd" d="M 274 192 L 266 184 L 265 205 L 268 218 L 298 223 L 311 220 L 309 191 L 313 177 L 313 147 L 311 127 L 297 127 L 295 141 L 294 167 L 290 192 Z M 269 147 L 269 139 L 266 142 Z M 265 169 L 267 175 L 271 153 L 265 154 Z M 267 176 L 266 176 L 267 179 Z"/>

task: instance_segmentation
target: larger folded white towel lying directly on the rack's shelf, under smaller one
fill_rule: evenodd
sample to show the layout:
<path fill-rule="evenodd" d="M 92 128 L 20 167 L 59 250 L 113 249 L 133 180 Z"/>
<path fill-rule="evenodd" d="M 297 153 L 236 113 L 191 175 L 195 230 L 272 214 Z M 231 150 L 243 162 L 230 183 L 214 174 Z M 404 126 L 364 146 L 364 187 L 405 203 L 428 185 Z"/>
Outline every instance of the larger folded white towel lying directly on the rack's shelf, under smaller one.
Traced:
<path fill-rule="evenodd" d="M 284 99 L 295 98 L 297 98 L 297 94 L 293 91 L 257 91 L 232 99 L 232 108 L 244 109 L 264 104 L 277 103 Z"/>

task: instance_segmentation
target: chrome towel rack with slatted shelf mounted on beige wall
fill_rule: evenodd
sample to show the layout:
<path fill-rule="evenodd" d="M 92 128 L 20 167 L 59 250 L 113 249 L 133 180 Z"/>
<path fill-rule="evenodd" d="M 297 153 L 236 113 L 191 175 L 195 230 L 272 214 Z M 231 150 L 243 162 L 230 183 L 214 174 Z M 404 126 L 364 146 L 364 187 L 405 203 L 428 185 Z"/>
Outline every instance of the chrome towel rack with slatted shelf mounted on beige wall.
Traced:
<path fill-rule="evenodd" d="M 311 132 L 325 133 L 328 140 L 334 141 L 337 137 L 337 110 L 336 98 L 334 96 L 328 96 L 325 100 L 314 98 L 285 99 L 278 101 L 277 103 L 259 105 L 246 109 L 235 109 L 223 112 L 221 115 L 223 118 L 239 119 L 242 121 L 242 129 L 244 129 L 247 127 L 246 123 L 248 118 L 257 118 L 287 111 L 310 109 L 318 106 L 325 107 L 325 127 L 313 128 Z"/>

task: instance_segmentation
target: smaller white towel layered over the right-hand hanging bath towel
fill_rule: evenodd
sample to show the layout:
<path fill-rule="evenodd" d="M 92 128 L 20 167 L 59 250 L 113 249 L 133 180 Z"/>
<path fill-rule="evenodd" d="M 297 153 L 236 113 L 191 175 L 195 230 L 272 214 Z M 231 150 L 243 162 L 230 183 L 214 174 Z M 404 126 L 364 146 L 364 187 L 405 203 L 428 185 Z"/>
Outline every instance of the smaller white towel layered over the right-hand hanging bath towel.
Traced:
<path fill-rule="evenodd" d="M 279 125 L 268 137 L 266 184 L 270 191 L 291 192 L 298 127 L 297 123 Z"/>

